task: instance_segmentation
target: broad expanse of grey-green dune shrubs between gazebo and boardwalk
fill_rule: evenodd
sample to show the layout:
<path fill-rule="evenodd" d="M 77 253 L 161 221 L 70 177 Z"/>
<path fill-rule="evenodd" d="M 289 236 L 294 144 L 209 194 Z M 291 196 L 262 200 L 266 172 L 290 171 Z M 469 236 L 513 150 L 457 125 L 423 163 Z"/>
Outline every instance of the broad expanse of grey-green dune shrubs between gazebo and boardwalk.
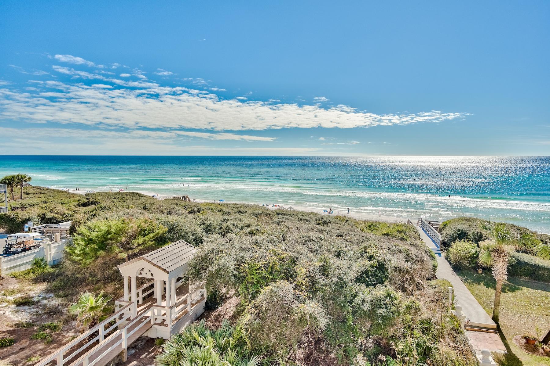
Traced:
<path fill-rule="evenodd" d="M 238 297 L 231 324 L 199 326 L 205 339 L 228 339 L 217 346 L 219 362 L 475 364 L 446 311 L 448 283 L 433 280 L 433 254 L 405 224 L 130 192 L 83 196 L 28 187 L 24 198 L 0 214 L 7 232 L 26 221 L 73 221 L 65 261 L 30 275 L 67 303 L 84 290 L 116 299 L 117 264 L 180 239 L 197 246 L 188 275 L 206 281 L 209 306 Z M 166 342 L 158 361 L 179 364 L 168 354 L 174 350 L 200 357 L 201 345 L 188 336 Z"/>

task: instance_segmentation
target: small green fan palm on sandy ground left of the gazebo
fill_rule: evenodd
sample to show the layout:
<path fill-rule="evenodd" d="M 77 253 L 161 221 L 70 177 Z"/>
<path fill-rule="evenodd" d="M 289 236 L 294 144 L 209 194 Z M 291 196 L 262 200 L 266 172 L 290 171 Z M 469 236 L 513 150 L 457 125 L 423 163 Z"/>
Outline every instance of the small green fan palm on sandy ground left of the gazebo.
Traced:
<path fill-rule="evenodd" d="M 108 305 L 113 296 L 103 294 L 101 291 L 95 295 L 90 291 L 80 292 L 75 302 L 67 305 L 67 311 L 76 315 L 76 325 L 80 326 L 82 333 L 93 328 L 105 320 L 113 312 L 113 307 Z"/>

